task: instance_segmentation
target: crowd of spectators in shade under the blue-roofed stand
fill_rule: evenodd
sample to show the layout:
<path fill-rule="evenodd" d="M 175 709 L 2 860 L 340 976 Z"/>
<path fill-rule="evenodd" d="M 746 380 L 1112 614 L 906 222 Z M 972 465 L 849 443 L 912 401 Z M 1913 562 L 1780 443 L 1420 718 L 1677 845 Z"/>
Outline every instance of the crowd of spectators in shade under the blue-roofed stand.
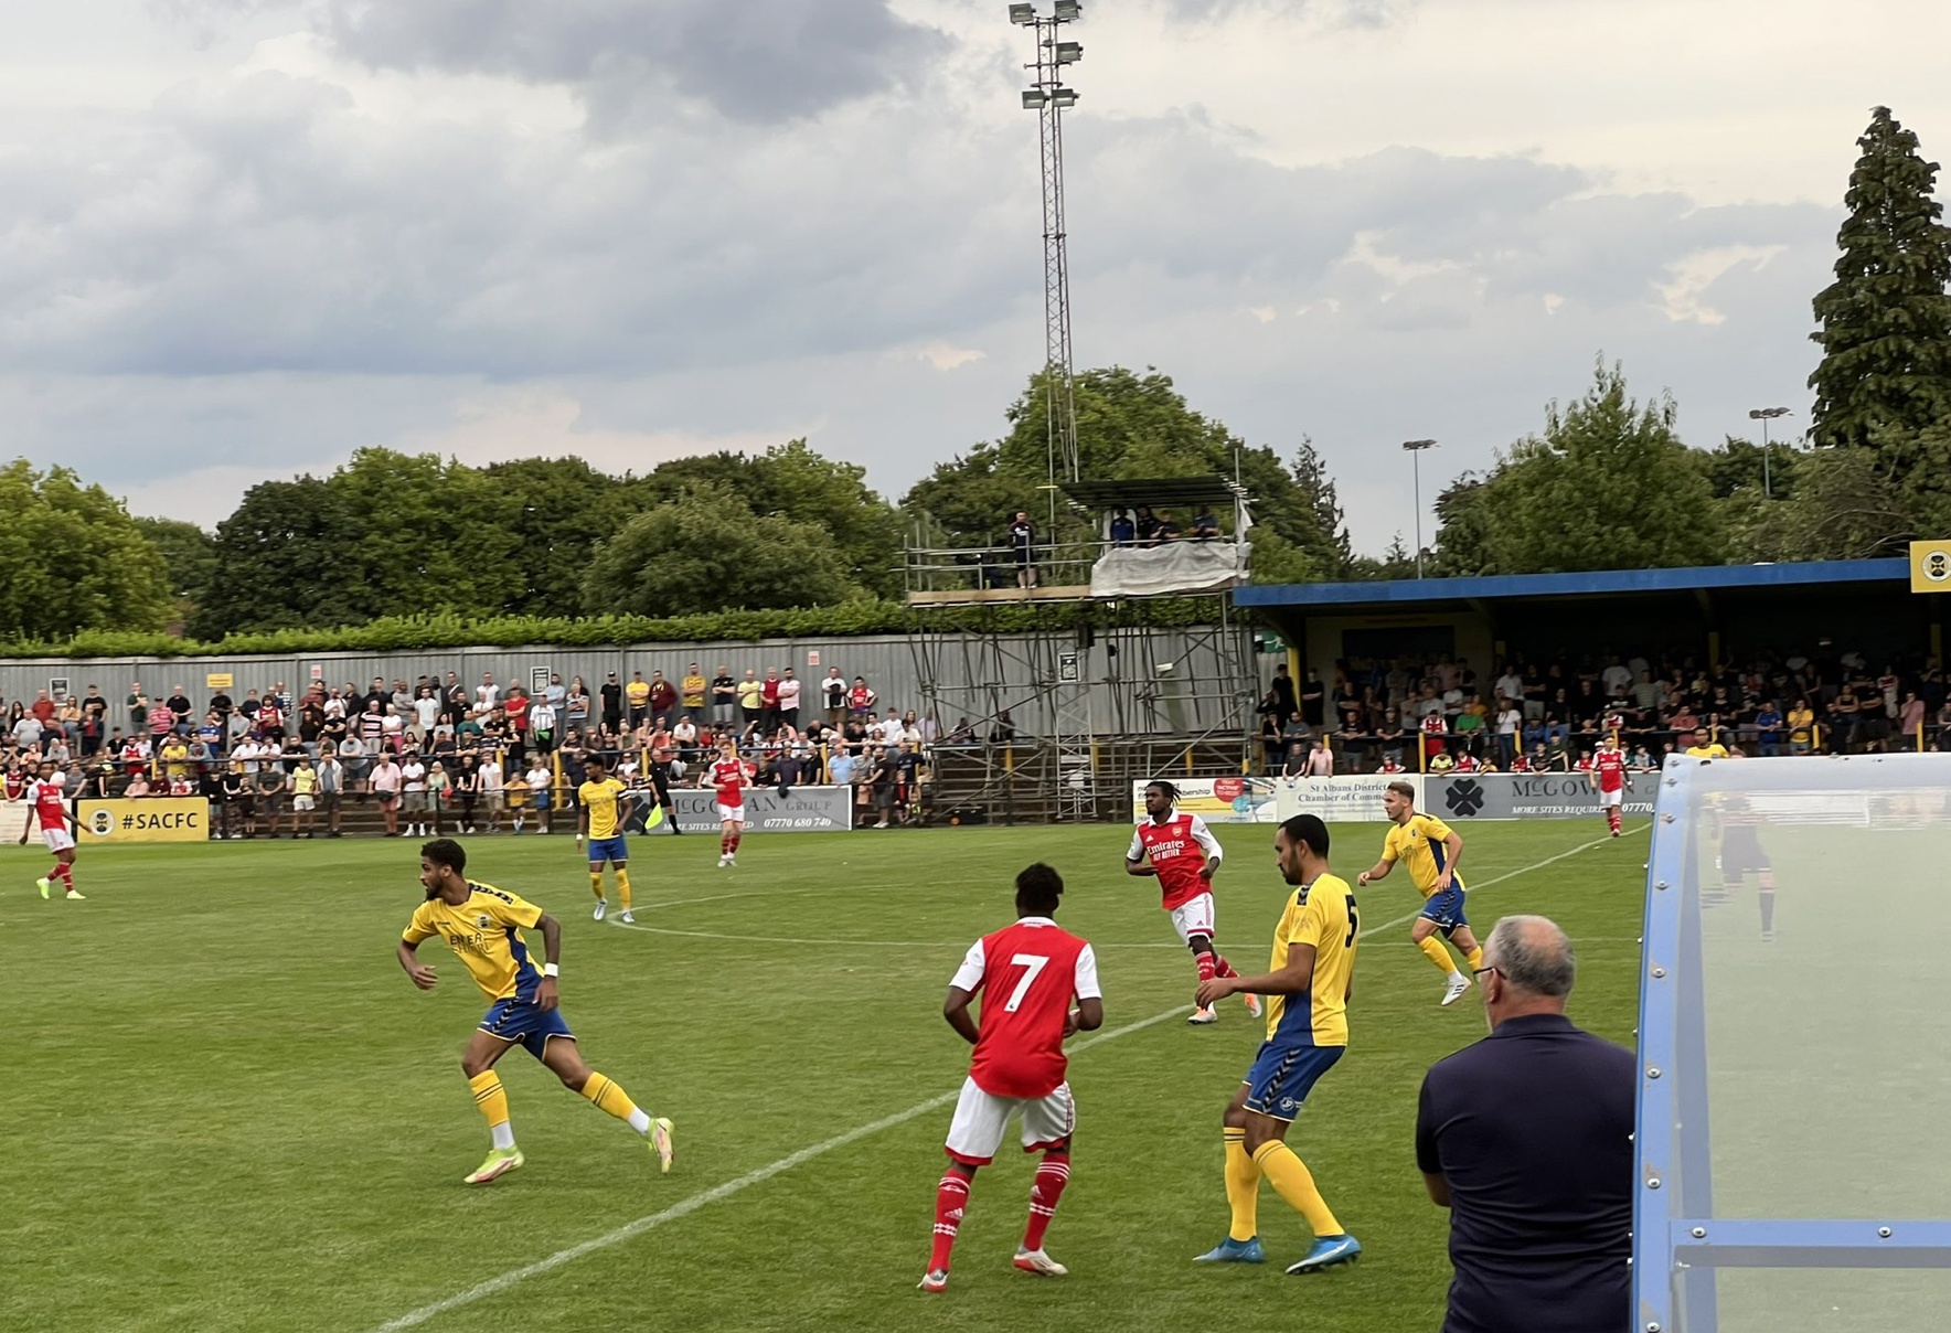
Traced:
<path fill-rule="evenodd" d="M 1935 658 L 1785 654 L 1703 666 L 1693 656 L 1342 662 L 1334 679 L 1280 667 L 1260 701 L 1276 777 L 1573 769 L 1617 736 L 1641 769 L 1693 746 L 1750 755 L 1937 749 L 1951 695 Z"/>

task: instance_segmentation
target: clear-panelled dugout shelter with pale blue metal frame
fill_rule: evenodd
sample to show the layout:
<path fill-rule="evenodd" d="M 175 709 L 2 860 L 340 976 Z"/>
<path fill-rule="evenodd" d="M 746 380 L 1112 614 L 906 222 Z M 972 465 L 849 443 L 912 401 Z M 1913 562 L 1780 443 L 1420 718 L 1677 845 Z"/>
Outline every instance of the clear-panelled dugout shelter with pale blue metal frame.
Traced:
<path fill-rule="evenodd" d="M 1631 1327 L 1951 1327 L 1951 755 L 1658 783 Z"/>

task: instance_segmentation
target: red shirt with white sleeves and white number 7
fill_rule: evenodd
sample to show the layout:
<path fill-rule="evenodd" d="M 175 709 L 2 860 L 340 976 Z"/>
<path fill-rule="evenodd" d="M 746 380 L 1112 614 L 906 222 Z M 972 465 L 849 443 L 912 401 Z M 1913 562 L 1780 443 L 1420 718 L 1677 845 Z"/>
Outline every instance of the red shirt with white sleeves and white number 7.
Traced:
<path fill-rule="evenodd" d="M 1022 917 L 970 945 L 952 982 L 981 995 L 970 1077 L 991 1097 L 1048 1097 L 1063 1083 L 1071 995 L 1100 999 L 1091 945 L 1050 917 Z"/>

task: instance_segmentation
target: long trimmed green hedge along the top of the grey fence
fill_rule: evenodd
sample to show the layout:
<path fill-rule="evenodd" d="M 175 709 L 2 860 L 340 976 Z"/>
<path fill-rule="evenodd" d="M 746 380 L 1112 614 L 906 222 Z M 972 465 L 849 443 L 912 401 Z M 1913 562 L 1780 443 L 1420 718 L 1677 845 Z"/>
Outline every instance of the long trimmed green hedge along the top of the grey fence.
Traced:
<path fill-rule="evenodd" d="M 1215 597 L 1167 597 L 1120 601 L 1116 611 L 1100 603 L 981 605 L 942 607 L 927 613 L 933 628 L 944 630 L 1030 630 L 1089 625 L 1161 626 L 1206 625 L 1214 621 Z M 297 656 L 318 652 L 412 652 L 423 648 L 517 648 L 550 644 L 558 648 L 609 648 L 624 644 L 683 644 L 759 638 L 851 638 L 860 634 L 903 634 L 913 613 L 899 601 L 849 601 L 837 607 L 790 611 L 714 611 L 706 615 L 599 615 L 533 617 L 503 615 L 470 619 L 460 615 L 388 615 L 367 625 L 334 630 L 267 630 L 224 634 L 215 642 L 144 630 L 88 630 L 66 642 L 0 640 L 0 658 L 244 658 Z"/>

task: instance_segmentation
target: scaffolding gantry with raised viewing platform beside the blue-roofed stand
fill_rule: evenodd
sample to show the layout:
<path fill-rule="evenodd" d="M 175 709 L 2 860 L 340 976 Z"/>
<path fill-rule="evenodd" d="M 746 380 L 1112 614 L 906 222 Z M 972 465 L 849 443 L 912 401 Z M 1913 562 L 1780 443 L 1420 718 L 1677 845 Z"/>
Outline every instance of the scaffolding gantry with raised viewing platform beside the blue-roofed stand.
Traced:
<path fill-rule="evenodd" d="M 935 747 L 936 812 L 1124 820 L 1134 777 L 1247 767 L 1260 675 L 1233 589 L 1249 574 L 1251 496 L 1223 476 L 1061 492 L 1065 509 L 1052 509 L 1028 560 L 1007 541 L 948 545 L 927 523 L 909 539 L 907 642 L 923 701 L 944 736 L 962 718 L 974 726 L 974 744 Z M 1208 511 L 1221 535 L 1114 543 L 1112 513 L 1139 505 L 1188 531 Z"/>

